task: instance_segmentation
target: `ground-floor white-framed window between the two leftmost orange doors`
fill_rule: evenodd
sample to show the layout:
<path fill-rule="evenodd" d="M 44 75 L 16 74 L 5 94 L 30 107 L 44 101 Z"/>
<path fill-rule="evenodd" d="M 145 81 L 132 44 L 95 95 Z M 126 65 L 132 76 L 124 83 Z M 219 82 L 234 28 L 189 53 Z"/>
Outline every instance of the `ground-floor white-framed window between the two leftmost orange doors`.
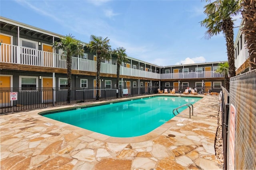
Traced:
<path fill-rule="evenodd" d="M 38 77 L 20 76 L 21 90 L 36 90 L 38 88 Z"/>

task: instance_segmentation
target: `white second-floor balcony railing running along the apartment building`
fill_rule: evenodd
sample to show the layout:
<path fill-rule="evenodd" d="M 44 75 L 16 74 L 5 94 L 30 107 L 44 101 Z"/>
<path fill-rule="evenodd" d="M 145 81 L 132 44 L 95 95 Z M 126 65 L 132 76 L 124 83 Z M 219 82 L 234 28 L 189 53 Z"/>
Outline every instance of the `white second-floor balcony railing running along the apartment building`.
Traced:
<path fill-rule="evenodd" d="M 16 45 L 8 45 L 1 43 L 0 62 L 26 64 L 33 66 L 45 66 L 54 68 L 67 68 L 65 55 L 54 54 L 36 49 L 18 47 Z M 89 72 L 96 72 L 96 61 L 72 57 L 72 69 Z M 100 72 L 106 74 L 116 74 L 117 66 L 113 64 L 101 63 Z M 182 79 L 182 78 L 218 78 L 223 77 L 220 73 L 213 71 L 206 72 L 188 72 L 188 73 L 170 73 L 158 74 L 154 72 L 138 70 L 120 66 L 120 75 L 136 76 L 154 79 Z"/>

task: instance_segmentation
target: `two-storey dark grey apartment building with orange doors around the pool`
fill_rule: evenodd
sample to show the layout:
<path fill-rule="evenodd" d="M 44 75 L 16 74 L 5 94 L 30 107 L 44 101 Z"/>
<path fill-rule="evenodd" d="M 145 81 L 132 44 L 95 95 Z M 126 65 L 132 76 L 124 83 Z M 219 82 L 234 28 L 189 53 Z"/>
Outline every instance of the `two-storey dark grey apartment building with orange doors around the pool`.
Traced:
<path fill-rule="evenodd" d="M 60 37 L 64 36 L 0 17 L 1 90 L 18 89 L 30 92 L 52 88 L 64 90 L 67 87 L 66 57 L 63 51 L 52 49 L 52 43 L 59 41 Z M 158 66 L 128 57 L 128 62 L 122 63 L 120 67 L 119 85 L 127 88 L 128 94 L 136 87 L 140 87 L 137 90 L 140 94 L 152 93 L 157 88 L 162 90 L 175 88 L 178 92 L 185 87 L 204 88 L 204 91 L 214 89 L 219 92 L 224 76 L 215 73 L 218 63 L 219 61 Z M 116 88 L 116 68 L 115 58 L 102 61 L 101 88 Z M 82 56 L 72 57 L 71 87 L 95 89 L 96 54 L 85 49 Z M 1 100 L 9 99 L 1 98 Z M 43 101 L 42 97 L 41 102 Z"/>

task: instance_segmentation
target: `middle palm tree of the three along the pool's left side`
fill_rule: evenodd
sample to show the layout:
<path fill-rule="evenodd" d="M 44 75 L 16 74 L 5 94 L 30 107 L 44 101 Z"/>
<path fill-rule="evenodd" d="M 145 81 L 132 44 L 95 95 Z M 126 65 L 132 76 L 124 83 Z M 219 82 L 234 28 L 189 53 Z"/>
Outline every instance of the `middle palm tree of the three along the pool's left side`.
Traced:
<path fill-rule="evenodd" d="M 96 100 L 100 99 L 99 96 L 99 85 L 100 85 L 100 64 L 101 61 L 106 59 L 110 60 L 110 51 L 111 46 L 109 45 L 109 39 L 108 37 L 102 38 L 97 37 L 95 35 L 90 36 L 90 42 L 86 45 L 86 47 L 92 52 L 96 53 L 97 55 L 97 76 L 96 76 L 96 86 L 97 86 L 97 93 L 96 93 Z"/>

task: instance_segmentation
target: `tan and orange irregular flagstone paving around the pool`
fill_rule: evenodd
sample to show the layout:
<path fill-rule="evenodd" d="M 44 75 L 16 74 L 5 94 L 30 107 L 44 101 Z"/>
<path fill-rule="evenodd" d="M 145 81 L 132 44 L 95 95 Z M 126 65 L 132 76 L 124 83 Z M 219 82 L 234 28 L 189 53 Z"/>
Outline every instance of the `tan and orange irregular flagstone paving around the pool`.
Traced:
<path fill-rule="evenodd" d="M 191 119 L 180 115 L 134 138 L 108 137 L 37 114 L 52 108 L 2 115 L 0 169 L 223 169 L 214 150 L 218 99 L 204 96 Z"/>

